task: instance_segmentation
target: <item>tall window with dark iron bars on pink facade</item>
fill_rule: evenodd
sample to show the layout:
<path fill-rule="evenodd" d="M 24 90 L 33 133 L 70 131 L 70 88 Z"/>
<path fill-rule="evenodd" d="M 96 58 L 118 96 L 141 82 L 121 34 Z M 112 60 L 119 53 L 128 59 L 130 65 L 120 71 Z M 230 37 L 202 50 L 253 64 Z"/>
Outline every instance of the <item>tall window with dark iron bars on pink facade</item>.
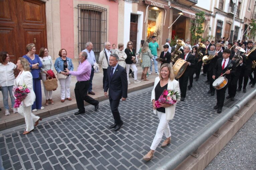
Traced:
<path fill-rule="evenodd" d="M 88 4 L 78 4 L 78 53 L 87 42 L 93 43 L 96 61 L 107 41 L 107 9 Z"/>

